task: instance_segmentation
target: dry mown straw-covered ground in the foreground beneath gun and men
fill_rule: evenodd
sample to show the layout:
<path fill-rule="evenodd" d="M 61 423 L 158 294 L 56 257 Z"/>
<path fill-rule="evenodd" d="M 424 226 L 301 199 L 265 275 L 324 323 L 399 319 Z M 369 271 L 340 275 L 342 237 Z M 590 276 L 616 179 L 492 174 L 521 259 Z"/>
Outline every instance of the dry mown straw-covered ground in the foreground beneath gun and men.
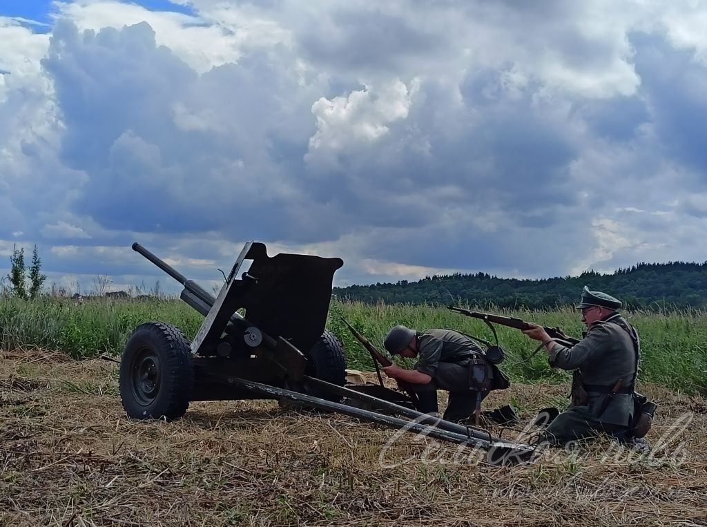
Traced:
<path fill-rule="evenodd" d="M 707 525 L 707 402 L 641 388 L 660 403 L 650 456 L 600 441 L 499 468 L 469 448 L 412 434 L 391 444 L 390 429 L 271 401 L 130 422 L 117 364 L 1 352 L 0 524 Z M 484 406 L 513 398 L 530 422 L 565 390 L 513 386 Z"/>

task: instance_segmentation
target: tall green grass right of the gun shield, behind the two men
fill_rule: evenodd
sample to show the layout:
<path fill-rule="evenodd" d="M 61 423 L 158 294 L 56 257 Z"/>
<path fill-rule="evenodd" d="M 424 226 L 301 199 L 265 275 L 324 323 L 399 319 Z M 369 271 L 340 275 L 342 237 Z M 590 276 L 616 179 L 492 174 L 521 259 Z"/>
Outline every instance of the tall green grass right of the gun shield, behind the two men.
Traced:
<path fill-rule="evenodd" d="M 481 311 L 481 310 L 479 310 Z M 573 337 L 582 337 L 585 326 L 578 311 L 560 308 L 554 311 L 527 311 L 494 309 L 493 313 L 522 318 L 562 330 Z M 364 303 L 332 303 L 329 310 L 329 329 L 334 331 L 347 350 L 359 349 L 347 355 L 353 367 L 368 367 L 371 361 L 361 345 L 338 320 L 339 315 L 370 342 L 382 349 L 382 340 L 390 328 L 404 324 L 409 328 L 452 328 L 487 341 L 494 341 L 491 330 L 474 318 L 435 306 L 407 306 L 402 304 L 371 306 Z M 658 383 L 686 393 L 707 393 L 707 313 L 702 311 L 674 311 L 670 313 L 626 313 L 641 337 L 641 371 L 639 381 Z M 538 342 L 530 340 L 518 330 L 495 326 L 498 341 L 506 350 L 506 361 L 501 369 L 515 381 L 566 381 L 568 373 L 551 369 L 547 353 L 541 350 L 532 358 Z"/>

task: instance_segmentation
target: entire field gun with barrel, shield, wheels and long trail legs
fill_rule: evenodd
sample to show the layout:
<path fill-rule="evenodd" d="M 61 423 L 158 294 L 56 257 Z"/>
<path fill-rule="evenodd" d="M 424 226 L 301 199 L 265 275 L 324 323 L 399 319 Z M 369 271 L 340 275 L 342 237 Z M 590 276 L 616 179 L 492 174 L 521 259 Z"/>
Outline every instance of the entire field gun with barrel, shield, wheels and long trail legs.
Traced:
<path fill-rule="evenodd" d="M 139 243 L 132 248 L 184 286 L 180 298 L 204 322 L 192 342 L 161 322 L 134 330 L 119 375 L 128 417 L 179 419 L 197 400 L 287 400 L 484 448 L 493 463 L 532 457 L 525 444 L 421 414 L 395 390 L 344 386 L 344 353 L 325 328 L 341 259 L 269 257 L 264 244 L 246 243 L 214 297 Z"/>

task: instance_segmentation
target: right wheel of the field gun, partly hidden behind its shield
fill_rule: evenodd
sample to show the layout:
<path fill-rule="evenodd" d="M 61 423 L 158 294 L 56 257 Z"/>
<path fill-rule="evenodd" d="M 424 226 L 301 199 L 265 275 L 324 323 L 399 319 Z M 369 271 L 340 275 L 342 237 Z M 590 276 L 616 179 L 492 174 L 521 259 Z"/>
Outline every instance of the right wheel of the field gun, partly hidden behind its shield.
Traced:
<path fill-rule="evenodd" d="M 305 374 L 310 377 L 319 378 L 327 383 L 344 386 L 346 383 L 346 361 L 344 361 L 344 348 L 334 333 L 324 330 L 319 340 L 312 346 L 307 354 L 307 369 Z M 341 402 L 340 395 L 326 393 L 316 387 L 303 386 L 300 383 L 286 381 L 285 388 L 307 395 L 313 395 L 322 399 Z M 296 403 L 288 399 L 280 399 L 280 406 L 288 410 L 313 410 L 306 403 Z"/>

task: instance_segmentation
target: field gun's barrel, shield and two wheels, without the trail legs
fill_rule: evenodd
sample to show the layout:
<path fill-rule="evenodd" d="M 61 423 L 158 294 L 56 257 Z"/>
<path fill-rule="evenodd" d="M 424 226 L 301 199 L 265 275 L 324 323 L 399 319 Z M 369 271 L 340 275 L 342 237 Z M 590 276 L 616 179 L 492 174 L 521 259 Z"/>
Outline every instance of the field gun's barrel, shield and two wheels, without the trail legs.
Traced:
<path fill-rule="evenodd" d="M 139 243 L 132 248 L 180 282 L 182 301 L 205 318 L 190 343 L 165 323 L 134 330 L 120 371 L 129 417 L 177 419 L 193 400 L 257 398 L 233 378 L 293 387 L 306 374 L 344 385 L 341 344 L 325 330 L 341 259 L 269 257 L 264 244 L 250 242 L 214 297 Z"/>

